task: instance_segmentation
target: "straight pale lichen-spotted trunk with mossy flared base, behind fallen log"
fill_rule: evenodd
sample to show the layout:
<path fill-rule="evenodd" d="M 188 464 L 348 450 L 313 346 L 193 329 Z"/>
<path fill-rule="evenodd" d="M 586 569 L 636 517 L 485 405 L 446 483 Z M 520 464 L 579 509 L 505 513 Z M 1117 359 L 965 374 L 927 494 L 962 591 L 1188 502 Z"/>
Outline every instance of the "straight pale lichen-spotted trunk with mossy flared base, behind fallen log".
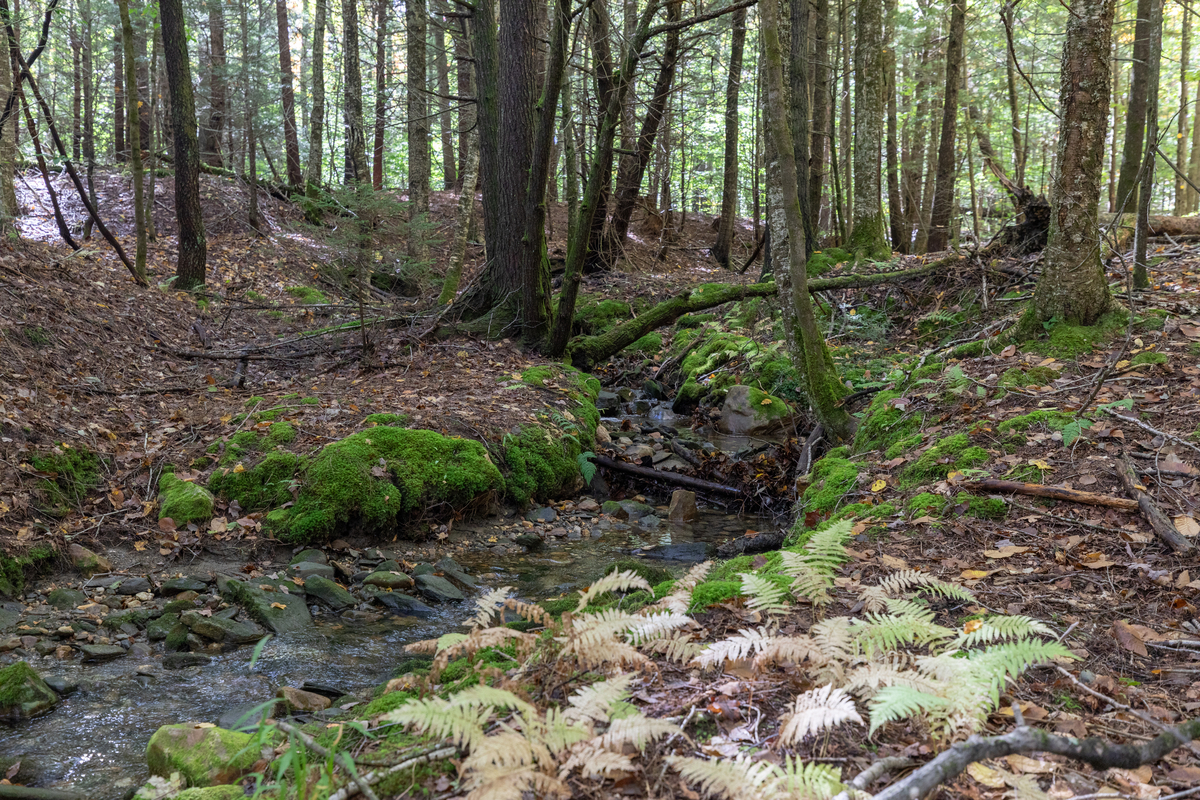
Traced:
<path fill-rule="evenodd" d="M 854 12 L 854 207 L 847 249 L 886 259 L 880 151 L 883 144 L 883 0 L 859 0 Z"/>

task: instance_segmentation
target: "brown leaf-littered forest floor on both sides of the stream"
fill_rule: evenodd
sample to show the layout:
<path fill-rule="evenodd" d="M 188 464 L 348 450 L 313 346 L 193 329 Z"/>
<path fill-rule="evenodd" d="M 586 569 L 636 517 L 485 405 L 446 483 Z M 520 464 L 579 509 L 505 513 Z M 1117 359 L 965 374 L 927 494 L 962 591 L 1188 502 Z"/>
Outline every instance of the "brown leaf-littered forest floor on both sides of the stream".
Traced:
<path fill-rule="evenodd" d="M 28 181 L 36 186 L 32 178 Z M 214 443 L 227 443 L 253 421 L 245 414 L 251 401 L 258 410 L 278 411 L 278 419 L 295 427 L 296 447 L 307 450 L 361 429 L 374 413 L 407 414 L 410 427 L 481 441 L 494 441 L 534 416 L 528 398 L 514 401 L 505 381 L 547 363 L 545 359 L 510 341 L 414 338 L 434 313 L 430 299 L 446 266 L 444 248 L 434 247 L 433 261 L 425 266 L 421 296 L 379 293 L 370 299 L 368 315 L 410 321 L 370 329 L 378 363 L 365 369 L 353 337 L 308 336 L 353 321 L 359 311 L 338 289 L 338 252 L 328 231 L 305 228 L 295 209 L 266 198 L 270 231 L 251 236 L 238 222 L 240 190 L 211 176 L 203 178 L 202 187 L 210 233 L 203 294 L 173 291 L 166 283 L 174 247 L 169 182 L 160 182 L 156 224 L 162 235 L 150 246 L 148 289 L 130 281 L 101 241 L 74 254 L 54 241 L 41 196 L 34 188 L 22 192 L 29 211 L 24 237 L 0 243 L 4 552 L 19 555 L 47 541 L 59 547 L 67 541 L 119 543 L 142 553 L 142 569 L 162 571 L 202 549 L 247 558 L 269 549 L 260 515 L 227 510 L 228 525 L 190 531 L 164 529 L 155 511 L 163 465 L 192 464 Z M 119 176 L 104 176 L 101 192 L 102 209 L 128 207 L 128 186 Z M 452 193 L 436 194 L 434 239 L 449 240 L 455 203 Z M 82 209 L 70 199 L 65 207 L 78 223 Z M 556 204 L 552 257 L 564 254 L 564 216 Z M 114 222 L 132 251 L 131 219 L 118 216 Z M 689 218 L 665 260 L 658 258 L 659 241 L 635 235 L 622 267 L 587 278 L 584 291 L 653 302 L 700 283 L 752 283 L 757 265 L 738 276 L 708 258 L 710 222 Z M 746 225 L 739 230 L 738 260 L 752 243 Z M 389 258 L 401 245 L 384 241 L 378 247 Z M 1060 326 L 1024 343 L 1003 336 L 1032 289 L 1037 255 L 995 259 L 986 269 L 967 261 L 968 269 L 948 276 L 822 299 L 845 375 L 856 390 L 887 392 L 870 408 L 870 396 L 856 407 L 866 409 L 865 419 L 880 420 L 883 433 L 876 444 L 884 446 L 860 447 L 851 456 L 850 479 L 839 479 L 832 504 L 818 495 L 833 479 L 818 473 L 811 491 L 797 494 L 808 486 L 800 482 L 782 492 L 791 492 L 787 501 L 809 501 L 800 506 L 799 528 L 854 506 L 851 560 L 841 567 L 824 613 L 854 614 L 863 585 L 919 570 L 974 593 L 973 603 L 935 606 L 940 624 L 958 630 L 983 613 L 1027 615 L 1049 625 L 1078 658 L 1069 667 L 1075 678 L 1044 666 L 1007 686 L 984 733 L 1010 729 L 1014 706 L 1038 727 L 1126 742 L 1146 741 L 1164 724 L 1198 716 L 1200 560 L 1194 554 L 1175 555 L 1136 510 L 1004 494 L 997 511 L 977 501 L 985 495 L 967 491 L 971 481 L 992 477 L 1127 499 L 1118 471 L 1128 455 L 1166 517 L 1200 542 L 1200 247 L 1157 247 L 1162 260 L 1153 270 L 1154 288 L 1135 295 L 1132 320 L 1114 317 L 1097 329 Z M 469 248 L 464 282 L 479 269 L 480 251 Z M 905 259 L 905 265 L 917 263 Z M 1123 285 L 1120 264 L 1112 269 L 1111 279 Z M 853 271 L 852 265 L 839 270 Z M 769 342 L 769 306 L 716 311 L 709 323 L 714 330 Z M 275 350 L 248 362 L 244 387 L 232 386 L 239 359 L 230 354 L 266 345 Z M 618 360 L 598 377 L 628 383 L 632 373 L 649 375 L 671 356 L 665 344 L 649 359 Z M 754 377 L 752 366 L 737 357 L 726 368 L 738 378 Z M 798 426 L 802 438 L 806 427 Z M 895 431 L 904 431 L 906 440 L 895 440 Z M 985 455 L 960 463 L 961 447 L 935 450 L 952 434 L 965 434 Z M 34 462 L 79 447 L 107 459 L 102 480 L 60 516 L 48 515 L 41 487 L 54 476 Z M 913 477 L 917 467 L 924 470 L 920 480 Z M 432 530 L 439 521 L 421 524 Z M 766 575 L 774 569 L 778 563 L 767 555 L 743 557 L 737 565 Z M 718 570 L 737 579 L 736 570 Z M 719 600 L 694 614 L 703 640 L 721 640 L 764 620 L 737 593 Z M 799 604 L 778 625 L 785 632 L 808 631 L 816 619 L 811 606 Z M 794 747 L 778 746 L 780 715 L 797 691 L 812 685 L 793 667 L 760 672 L 733 660 L 724 676 L 712 680 L 655 656 L 650 667 L 637 670 L 631 702 L 647 716 L 688 720 L 686 745 L 672 738 L 647 750 L 636 774 L 610 782 L 576 774 L 571 786 L 580 796 L 690 799 L 698 796 L 695 784 L 662 780 L 672 753 L 754 753 L 776 764 L 794 753 L 840 768 L 848 778 L 877 758 L 919 762 L 944 744 L 913 722 L 892 723 L 870 739 L 862 728 L 846 727 Z M 461 794 L 439 770 L 420 781 L 432 796 Z M 947 794 L 1158 800 L 1195 786 L 1200 759 L 1183 748 L 1136 770 L 1094 771 L 1055 756 L 1010 756 L 986 771 L 964 775 Z"/>

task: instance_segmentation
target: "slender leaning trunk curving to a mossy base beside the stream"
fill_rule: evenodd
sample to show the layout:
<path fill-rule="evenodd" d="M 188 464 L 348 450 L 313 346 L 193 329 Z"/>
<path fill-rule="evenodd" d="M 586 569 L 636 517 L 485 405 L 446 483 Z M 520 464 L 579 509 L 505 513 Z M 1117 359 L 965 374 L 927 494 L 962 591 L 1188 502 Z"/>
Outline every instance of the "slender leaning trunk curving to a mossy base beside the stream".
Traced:
<path fill-rule="evenodd" d="M 784 206 L 787 219 L 787 258 L 775 259 L 775 279 L 779 283 L 784 308 L 784 329 L 787 331 L 792 362 L 804 377 L 812 411 L 832 441 L 848 441 L 854 434 L 854 420 L 839 402 L 846 395 L 846 386 L 838 378 L 833 356 L 817 327 L 808 289 L 804 221 L 800 217 L 799 191 L 796 181 L 796 149 L 791 142 L 792 132 L 787 120 L 790 100 L 794 98 L 788 98 L 785 94 L 779 2 L 778 0 L 761 0 L 758 11 L 762 14 L 763 71 L 767 79 L 767 103 L 763 110 L 767 134 L 774 143 L 778 158 L 778 169 L 773 175 L 776 188 L 772 192 L 774 194 L 772 199 Z M 859 13 L 863 13 L 862 5 Z M 860 38 L 859 46 L 862 43 Z M 876 77 L 882 79 L 883 76 L 877 74 Z M 808 91 L 808 86 L 804 86 L 803 90 Z M 876 140 L 877 144 L 878 140 Z M 875 172 L 877 181 L 877 161 Z"/>

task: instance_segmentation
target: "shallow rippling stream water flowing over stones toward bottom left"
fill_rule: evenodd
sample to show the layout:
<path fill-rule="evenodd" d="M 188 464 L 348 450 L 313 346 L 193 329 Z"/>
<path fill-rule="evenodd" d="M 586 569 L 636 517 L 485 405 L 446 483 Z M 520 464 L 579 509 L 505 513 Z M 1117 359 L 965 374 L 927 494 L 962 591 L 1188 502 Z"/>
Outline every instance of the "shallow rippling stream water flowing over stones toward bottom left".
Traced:
<path fill-rule="evenodd" d="M 685 560 L 698 560 L 695 555 L 706 547 L 748 528 L 769 527 L 766 519 L 703 510 L 702 518 L 690 525 L 664 522 L 643 530 L 613 524 L 599 536 L 551 543 L 540 553 L 481 551 L 455 558 L 486 576 L 481 583 L 487 587 L 512 585 L 523 597 L 545 599 L 580 588 L 619 558 L 634 554 L 679 572 L 686 569 Z M 476 523 L 472 530 L 486 539 L 487 524 Z M 497 528 L 497 534 L 506 533 Z M 35 656 L 31 664 L 41 673 L 61 675 L 79 688 L 47 716 L 0 724 L 0 763 L 20 760 L 19 782 L 74 789 L 91 800 L 118 800 L 144 782 L 145 746 L 160 726 L 215 723 L 239 705 L 262 703 L 277 687 L 305 680 L 347 692 L 383 682 L 392 676 L 406 643 L 452 630 L 469 615 L 469 604 L 470 599 L 439 607 L 433 619 L 412 625 L 404 621 L 415 622 L 413 618 L 385 618 L 368 625 L 318 618 L 307 630 L 272 638 L 253 669 L 248 646 L 181 670 L 162 668 L 161 644 L 149 658 L 126 656 L 94 666 Z M 139 668 L 149 674 L 139 674 Z"/>

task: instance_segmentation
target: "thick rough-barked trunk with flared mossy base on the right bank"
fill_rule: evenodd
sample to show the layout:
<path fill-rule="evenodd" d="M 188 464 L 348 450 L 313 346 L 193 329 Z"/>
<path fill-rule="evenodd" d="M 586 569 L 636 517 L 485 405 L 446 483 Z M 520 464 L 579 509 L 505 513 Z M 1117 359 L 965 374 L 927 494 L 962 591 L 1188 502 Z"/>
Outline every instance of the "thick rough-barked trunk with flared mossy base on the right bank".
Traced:
<path fill-rule="evenodd" d="M 1114 0 L 1075 0 L 1067 18 L 1050 236 L 1030 312 L 1034 323 L 1091 325 L 1109 308 L 1097 209 L 1109 113 Z"/>

